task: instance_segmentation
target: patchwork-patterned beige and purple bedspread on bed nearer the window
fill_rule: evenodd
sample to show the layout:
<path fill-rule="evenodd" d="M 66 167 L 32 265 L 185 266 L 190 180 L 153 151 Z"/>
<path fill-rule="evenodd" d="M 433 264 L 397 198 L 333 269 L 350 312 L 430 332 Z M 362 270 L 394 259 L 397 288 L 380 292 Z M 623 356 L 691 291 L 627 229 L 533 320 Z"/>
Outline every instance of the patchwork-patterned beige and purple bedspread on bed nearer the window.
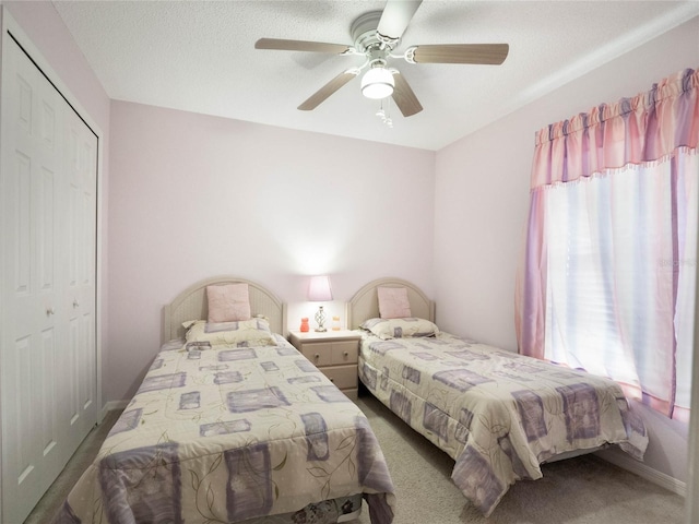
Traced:
<path fill-rule="evenodd" d="M 486 516 L 553 455 L 617 443 L 643 457 L 645 428 L 611 380 L 443 332 L 363 336 L 364 384 L 454 458 L 453 481 Z"/>

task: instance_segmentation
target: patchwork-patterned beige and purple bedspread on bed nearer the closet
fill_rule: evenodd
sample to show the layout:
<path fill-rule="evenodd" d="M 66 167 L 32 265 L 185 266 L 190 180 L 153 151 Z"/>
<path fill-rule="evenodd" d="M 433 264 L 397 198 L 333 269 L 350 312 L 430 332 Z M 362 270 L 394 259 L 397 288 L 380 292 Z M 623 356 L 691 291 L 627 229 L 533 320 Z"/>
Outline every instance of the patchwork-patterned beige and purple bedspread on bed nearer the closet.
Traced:
<path fill-rule="evenodd" d="M 55 522 L 233 523 L 363 493 L 371 522 L 390 523 L 393 486 L 366 417 L 274 336 L 163 346 Z"/>

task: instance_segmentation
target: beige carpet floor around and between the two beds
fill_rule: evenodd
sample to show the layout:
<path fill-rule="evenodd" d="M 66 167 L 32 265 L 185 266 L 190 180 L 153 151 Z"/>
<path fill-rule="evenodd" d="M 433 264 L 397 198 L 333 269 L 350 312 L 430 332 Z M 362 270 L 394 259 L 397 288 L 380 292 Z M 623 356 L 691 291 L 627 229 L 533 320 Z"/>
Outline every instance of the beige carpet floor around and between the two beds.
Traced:
<path fill-rule="evenodd" d="M 544 478 L 512 486 L 485 519 L 451 481 L 453 461 L 447 454 L 372 396 L 365 394 L 357 404 L 369 418 L 393 477 L 394 524 L 680 524 L 684 520 L 683 497 L 592 455 L 544 466 Z M 118 415 L 110 412 L 90 433 L 25 524 L 50 522 Z M 370 524 L 366 508 L 353 524 Z"/>

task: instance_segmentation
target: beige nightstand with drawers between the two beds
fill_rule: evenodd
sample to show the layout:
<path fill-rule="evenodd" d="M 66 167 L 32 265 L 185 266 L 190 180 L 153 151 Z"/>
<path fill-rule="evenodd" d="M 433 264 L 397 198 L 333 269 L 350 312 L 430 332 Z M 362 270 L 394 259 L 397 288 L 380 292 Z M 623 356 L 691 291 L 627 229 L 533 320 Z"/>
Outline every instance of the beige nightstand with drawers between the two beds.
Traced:
<path fill-rule="evenodd" d="M 289 341 L 353 401 L 357 400 L 359 341 L 354 331 L 293 331 Z"/>

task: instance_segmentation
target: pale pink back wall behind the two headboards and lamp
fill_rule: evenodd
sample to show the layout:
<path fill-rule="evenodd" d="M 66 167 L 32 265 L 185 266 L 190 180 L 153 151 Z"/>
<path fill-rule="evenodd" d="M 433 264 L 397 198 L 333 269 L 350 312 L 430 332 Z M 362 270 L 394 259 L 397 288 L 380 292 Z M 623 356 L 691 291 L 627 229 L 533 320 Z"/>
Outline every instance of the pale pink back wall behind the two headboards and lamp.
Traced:
<path fill-rule="evenodd" d="M 112 102 L 105 400 L 134 393 L 163 305 L 201 278 L 250 278 L 292 305 L 312 274 L 331 275 L 339 301 L 389 275 L 431 293 L 434 163 L 423 150 Z"/>

